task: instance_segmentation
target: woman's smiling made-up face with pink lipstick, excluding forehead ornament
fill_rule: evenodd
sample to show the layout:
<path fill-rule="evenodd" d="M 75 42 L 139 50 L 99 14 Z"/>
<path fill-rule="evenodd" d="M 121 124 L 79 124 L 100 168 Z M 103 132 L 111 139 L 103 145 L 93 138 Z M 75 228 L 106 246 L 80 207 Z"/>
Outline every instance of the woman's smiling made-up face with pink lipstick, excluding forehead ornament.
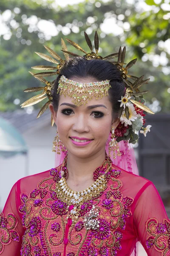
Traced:
<path fill-rule="evenodd" d="M 71 80 L 90 83 L 94 79 L 72 77 Z M 119 119 L 113 120 L 112 105 L 108 96 L 91 99 L 86 105 L 75 106 L 69 96 L 59 97 L 58 111 L 50 105 L 59 138 L 72 155 L 88 158 L 105 151 L 111 127 L 117 127 Z"/>

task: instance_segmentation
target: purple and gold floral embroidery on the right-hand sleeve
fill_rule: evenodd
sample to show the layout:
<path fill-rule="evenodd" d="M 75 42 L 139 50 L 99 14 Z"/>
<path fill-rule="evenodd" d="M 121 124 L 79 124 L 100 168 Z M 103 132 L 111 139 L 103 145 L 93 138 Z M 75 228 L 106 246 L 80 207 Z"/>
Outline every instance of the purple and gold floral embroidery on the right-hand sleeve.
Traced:
<path fill-rule="evenodd" d="M 147 249 L 154 247 L 163 255 L 170 254 L 170 221 L 164 219 L 159 223 L 156 218 L 150 218 L 146 222 L 146 231 L 149 234 L 146 240 Z"/>

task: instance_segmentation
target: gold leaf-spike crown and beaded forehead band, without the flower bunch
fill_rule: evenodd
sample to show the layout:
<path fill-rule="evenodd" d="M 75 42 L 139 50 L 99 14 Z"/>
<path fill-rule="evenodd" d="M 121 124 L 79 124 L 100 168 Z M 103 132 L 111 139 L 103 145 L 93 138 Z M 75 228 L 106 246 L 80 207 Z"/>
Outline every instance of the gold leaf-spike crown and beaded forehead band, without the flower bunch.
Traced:
<path fill-rule="evenodd" d="M 122 99 L 120 100 L 120 111 L 119 111 L 119 118 L 121 120 L 121 116 L 125 116 L 127 120 L 130 118 L 130 104 L 133 103 L 134 106 L 137 108 L 146 111 L 148 113 L 153 112 L 147 108 L 147 106 L 144 105 L 144 99 L 143 94 L 147 93 L 148 91 L 140 91 L 139 87 L 141 87 L 143 84 L 147 84 L 149 79 L 143 80 L 144 76 L 140 76 L 139 78 L 136 76 L 131 76 L 128 74 L 128 69 L 132 67 L 137 59 L 133 59 L 130 61 L 125 67 L 124 63 L 125 61 L 125 53 L 126 53 L 126 47 L 122 49 L 122 47 L 119 48 L 119 52 L 112 53 L 110 55 L 107 55 L 105 57 L 102 57 L 98 55 L 99 51 L 99 38 L 97 35 L 97 32 L 95 32 L 94 36 L 94 46 L 95 46 L 95 52 L 93 51 L 92 43 L 88 35 L 85 33 L 85 40 L 88 44 L 88 47 L 90 48 L 91 52 L 87 53 L 85 52 L 82 47 L 80 47 L 77 43 L 74 41 L 71 41 L 70 39 L 66 38 L 66 40 L 74 46 L 76 49 L 78 49 L 81 52 L 84 52 L 85 55 L 83 56 L 87 61 L 90 61 L 92 59 L 102 59 L 102 60 L 108 60 L 111 61 L 113 65 L 116 65 L 117 68 L 122 72 L 122 80 L 125 81 L 125 87 L 126 87 L 126 93 L 125 96 L 122 96 Z M 60 71 L 62 70 L 62 67 L 64 67 L 65 63 L 69 61 L 69 55 L 73 57 L 77 57 L 79 55 L 69 52 L 64 40 L 61 38 L 61 45 L 62 45 L 62 52 L 64 53 L 65 60 L 63 60 L 56 52 L 54 52 L 51 48 L 45 46 L 45 49 L 53 56 L 53 58 L 49 57 L 48 55 L 40 52 L 36 52 L 37 55 L 39 55 L 41 58 L 45 59 L 46 61 L 50 61 L 54 64 L 54 66 L 34 66 L 32 67 L 35 70 L 44 70 L 45 72 L 40 73 L 33 73 L 30 72 L 32 76 L 34 76 L 36 79 L 41 81 L 45 84 L 45 87 L 31 87 L 24 92 L 37 92 L 41 91 L 42 93 L 38 94 L 37 96 L 32 97 L 31 99 L 26 100 L 26 102 L 23 102 L 21 104 L 21 108 L 25 108 L 34 104 L 37 104 L 38 102 L 41 102 L 43 99 L 46 99 L 48 97 L 48 101 L 45 103 L 45 105 L 42 106 L 40 109 L 37 118 L 39 118 L 45 110 L 48 108 L 50 103 L 53 101 L 53 96 L 51 93 L 51 89 L 54 89 L 54 81 L 47 81 L 44 79 L 44 77 L 49 76 L 57 76 L 60 74 Z M 113 61 L 113 58 L 118 58 L 117 61 Z M 52 70 L 52 71 L 49 71 Z M 134 82 L 128 80 L 131 79 Z M 101 83 L 104 82 L 102 85 Z M 82 105 L 87 103 L 88 99 L 92 98 L 92 95 L 98 98 L 102 98 L 103 96 L 108 95 L 108 89 L 111 87 L 108 80 L 105 81 L 99 81 L 99 82 L 93 82 L 90 84 L 93 84 L 93 86 L 89 87 L 89 84 L 82 84 L 82 83 L 75 83 L 72 80 L 66 79 L 64 76 L 61 76 L 59 80 L 59 87 L 57 93 L 68 95 L 73 99 L 73 102 L 76 105 Z M 133 97 L 133 99 L 131 99 Z M 128 122 L 127 122 L 128 123 Z M 53 116 L 51 114 L 51 125 L 54 125 Z"/>

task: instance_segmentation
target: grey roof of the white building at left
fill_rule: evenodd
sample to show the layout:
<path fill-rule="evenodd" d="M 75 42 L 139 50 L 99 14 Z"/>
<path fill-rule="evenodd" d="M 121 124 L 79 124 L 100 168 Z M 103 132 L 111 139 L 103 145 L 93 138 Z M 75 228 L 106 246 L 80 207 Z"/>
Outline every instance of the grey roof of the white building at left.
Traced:
<path fill-rule="evenodd" d="M 42 116 L 37 119 L 39 110 L 34 110 L 31 114 L 25 110 L 16 110 L 13 112 L 0 112 L 0 116 L 8 120 L 21 133 L 28 131 L 35 126 L 40 128 L 44 125 L 51 125 L 51 112 L 47 109 Z"/>

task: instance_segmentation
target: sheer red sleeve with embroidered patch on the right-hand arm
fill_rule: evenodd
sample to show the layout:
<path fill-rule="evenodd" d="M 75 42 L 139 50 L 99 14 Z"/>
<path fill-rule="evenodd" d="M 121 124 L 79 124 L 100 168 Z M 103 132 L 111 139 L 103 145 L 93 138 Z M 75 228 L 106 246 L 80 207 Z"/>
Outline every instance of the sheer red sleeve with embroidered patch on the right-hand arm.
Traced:
<path fill-rule="evenodd" d="M 134 225 L 136 236 L 148 256 L 170 255 L 170 221 L 161 197 L 148 181 L 136 195 Z"/>

